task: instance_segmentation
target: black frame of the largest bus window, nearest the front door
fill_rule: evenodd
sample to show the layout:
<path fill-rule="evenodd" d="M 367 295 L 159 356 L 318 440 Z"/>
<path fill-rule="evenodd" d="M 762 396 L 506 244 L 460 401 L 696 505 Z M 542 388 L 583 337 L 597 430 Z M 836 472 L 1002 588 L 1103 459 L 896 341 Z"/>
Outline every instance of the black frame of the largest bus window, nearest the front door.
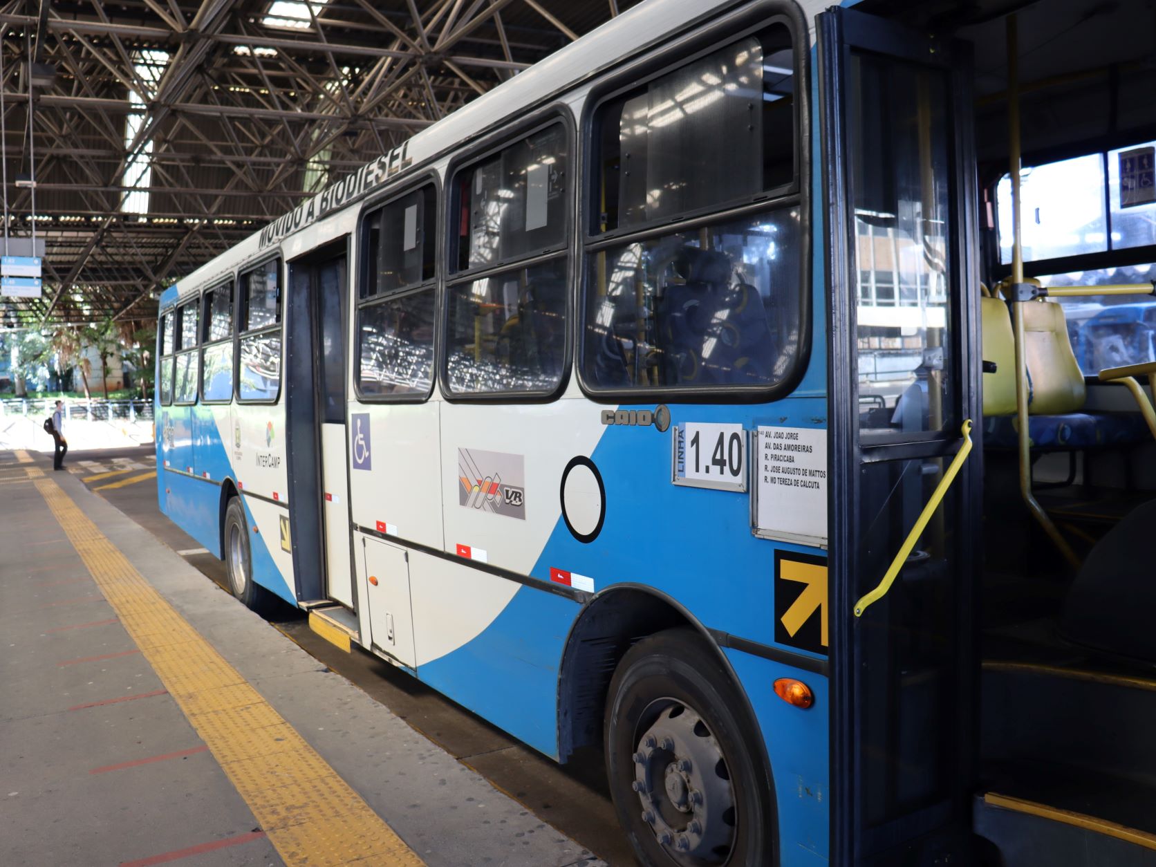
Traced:
<path fill-rule="evenodd" d="M 688 210 L 677 218 L 646 221 L 630 229 L 613 229 L 598 231 L 596 221 L 601 209 L 596 205 L 596 187 L 601 178 L 596 165 L 600 151 L 601 112 L 603 108 L 625 94 L 638 90 L 650 82 L 675 72 L 689 64 L 701 60 L 740 39 L 757 36 L 761 31 L 781 24 L 791 36 L 792 68 L 794 71 L 794 171 L 788 184 L 759 191 L 749 198 L 718 202 L 716 205 Z M 679 50 L 681 49 L 681 51 Z M 672 59 L 672 55 L 674 59 Z M 761 9 L 757 15 L 742 16 L 738 22 L 724 22 L 706 27 L 694 34 L 686 44 L 665 52 L 650 54 L 618 69 L 613 76 L 600 82 L 591 91 L 583 109 L 581 141 L 583 163 L 580 175 L 580 222 L 583 230 L 579 237 L 579 249 L 576 253 L 579 271 L 577 283 L 576 313 L 571 332 L 577 333 L 577 347 L 573 356 L 573 369 L 578 386 L 584 395 L 598 403 L 758 403 L 788 397 L 799 383 L 810 362 L 812 353 L 812 94 L 810 94 L 810 53 L 809 36 L 806 22 L 798 9 L 781 6 L 768 13 Z M 695 385 L 695 386 L 636 386 L 603 387 L 592 384 L 584 370 L 587 321 L 587 290 L 591 281 L 590 261 L 594 254 L 630 242 L 674 235 L 706 225 L 719 225 L 761 213 L 772 213 L 784 208 L 799 209 L 799 339 L 795 351 L 790 360 L 785 376 L 766 386 L 746 385 Z"/>

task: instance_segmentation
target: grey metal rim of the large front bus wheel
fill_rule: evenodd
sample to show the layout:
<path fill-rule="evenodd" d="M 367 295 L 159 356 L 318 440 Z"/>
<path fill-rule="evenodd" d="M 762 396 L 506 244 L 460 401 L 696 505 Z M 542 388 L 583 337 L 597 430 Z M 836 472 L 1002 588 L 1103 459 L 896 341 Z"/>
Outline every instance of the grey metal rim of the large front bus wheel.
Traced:
<path fill-rule="evenodd" d="M 738 830 L 734 787 L 722 748 L 702 716 L 664 698 L 635 747 L 635 781 L 642 818 L 666 853 L 681 865 L 725 864 Z"/>

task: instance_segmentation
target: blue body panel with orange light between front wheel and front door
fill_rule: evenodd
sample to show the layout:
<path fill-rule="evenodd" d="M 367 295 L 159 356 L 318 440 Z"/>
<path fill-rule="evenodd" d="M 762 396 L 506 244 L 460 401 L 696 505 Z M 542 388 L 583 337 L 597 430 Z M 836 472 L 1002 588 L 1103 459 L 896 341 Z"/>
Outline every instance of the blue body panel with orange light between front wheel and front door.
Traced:
<path fill-rule="evenodd" d="M 827 679 L 742 651 L 724 652 L 747 692 L 766 743 L 779 816 L 779 864 L 825 866 L 830 850 Z M 802 710 L 780 699 L 771 691 L 779 677 L 806 683 L 815 704 Z"/>

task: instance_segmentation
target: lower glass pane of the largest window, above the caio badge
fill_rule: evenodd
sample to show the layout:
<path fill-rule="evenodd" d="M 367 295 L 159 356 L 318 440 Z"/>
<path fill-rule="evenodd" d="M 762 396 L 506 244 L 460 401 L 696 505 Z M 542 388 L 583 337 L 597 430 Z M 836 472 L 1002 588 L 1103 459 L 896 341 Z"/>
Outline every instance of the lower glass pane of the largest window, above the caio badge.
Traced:
<path fill-rule="evenodd" d="M 596 388 L 762 386 L 799 348 L 798 208 L 591 255 L 583 371 Z"/>

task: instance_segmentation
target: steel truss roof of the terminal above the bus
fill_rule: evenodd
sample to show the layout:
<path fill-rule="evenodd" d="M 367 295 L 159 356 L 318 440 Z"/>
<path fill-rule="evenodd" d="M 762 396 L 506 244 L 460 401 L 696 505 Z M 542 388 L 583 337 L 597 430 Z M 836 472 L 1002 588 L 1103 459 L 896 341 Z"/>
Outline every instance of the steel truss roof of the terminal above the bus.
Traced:
<path fill-rule="evenodd" d="M 160 288 L 637 1 L 0 2 L 10 225 L 35 158 L 46 242 L 43 297 L 0 324 L 153 318 Z"/>

